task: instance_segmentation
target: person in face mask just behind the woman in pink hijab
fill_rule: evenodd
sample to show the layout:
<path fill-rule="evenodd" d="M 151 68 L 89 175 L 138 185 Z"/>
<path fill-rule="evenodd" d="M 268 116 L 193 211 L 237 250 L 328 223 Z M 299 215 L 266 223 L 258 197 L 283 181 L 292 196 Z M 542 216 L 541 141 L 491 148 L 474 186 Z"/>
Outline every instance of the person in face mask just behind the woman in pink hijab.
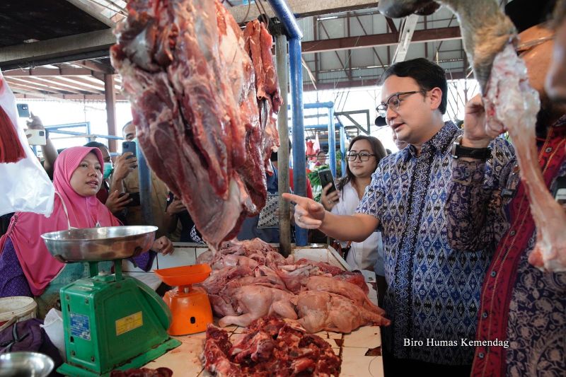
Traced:
<path fill-rule="evenodd" d="M 128 195 L 122 195 L 120 197 L 120 191 L 113 190 L 110 193 L 110 177 L 112 175 L 112 170 L 114 170 L 114 165 L 112 164 L 112 158 L 110 158 L 110 150 L 108 146 L 105 144 L 99 143 L 98 141 L 90 141 L 84 146 L 88 146 L 91 148 L 98 148 L 103 156 L 104 161 L 104 168 L 103 168 L 103 181 L 102 185 L 100 186 L 100 190 L 98 190 L 96 197 L 100 202 L 105 204 L 110 212 L 120 218 L 122 211 L 126 208 L 126 205 L 131 202 L 132 200 L 129 199 Z M 129 162 L 129 161 L 128 161 Z M 125 159 L 118 161 L 120 164 L 127 163 Z M 120 219 L 122 220 L 122 219 Z"/>

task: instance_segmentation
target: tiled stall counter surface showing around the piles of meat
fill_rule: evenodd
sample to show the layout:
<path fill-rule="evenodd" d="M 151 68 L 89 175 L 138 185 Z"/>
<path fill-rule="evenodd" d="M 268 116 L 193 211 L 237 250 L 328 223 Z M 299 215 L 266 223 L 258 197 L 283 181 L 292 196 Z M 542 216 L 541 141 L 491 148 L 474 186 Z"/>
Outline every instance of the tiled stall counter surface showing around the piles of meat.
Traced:
<path fill-rule="evenodd" d="M 195 243 L 174 243 L 175 251 L 171 255 L 158 255 L 154 260 L 151 271 L 159 268 L 194 265 L 198 255 L 207 248 Z M 277 245 L 275 245 L 277 246 Z M 326 245 L 311 245 L 303 248 L 294 248 L 292 253 L 296 258 L 307 258 L 317 262 L 327 262 L 330 265 L 350 269 L 345 260 L 336 251 Z M 150 286 L 161 282 L 153 272 L 143 272 L 134 267 L 131 262 L 124 262 L 125 273 L 143 280 Z M 364 274 L 369 284 L 369 298 L 377 304 L 375 274 Z M 228 326 L 224 330 L 229 332 L 232 343 L 243 337 L 243 327 Z M 335 354 L 342 358 L 340 376 L 377 377 L 383 376 L 383 359 L 381 357 L 381 333 L 379 326 L 364 326 L 352 331 L 350 334 L 340 332 L 321 331 L 316 335 L 322 337 L 333 348 Z M 151 361 L 146 368 L 156 369 L 165 366 L 173 371 L 173 376 L 212 376 L 204 371 L 200 361 L 200 354 L 204 347 L 205 332 L 175 337 L 182 344 Z"/>

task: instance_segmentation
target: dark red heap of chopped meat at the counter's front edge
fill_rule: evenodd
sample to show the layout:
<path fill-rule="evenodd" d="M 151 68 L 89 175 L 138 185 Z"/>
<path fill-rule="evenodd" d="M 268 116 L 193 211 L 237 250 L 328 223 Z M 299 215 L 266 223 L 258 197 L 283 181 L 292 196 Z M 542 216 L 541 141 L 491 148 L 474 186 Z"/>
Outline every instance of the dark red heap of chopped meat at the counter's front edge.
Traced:
<path fill-rule="evenodd" d="M 204 368 L 216 376 L 339 376 L 341 360 L 318 335 L 278 318 L 253 321 L 236 344 L 214 325 L 207 329 Z"/>

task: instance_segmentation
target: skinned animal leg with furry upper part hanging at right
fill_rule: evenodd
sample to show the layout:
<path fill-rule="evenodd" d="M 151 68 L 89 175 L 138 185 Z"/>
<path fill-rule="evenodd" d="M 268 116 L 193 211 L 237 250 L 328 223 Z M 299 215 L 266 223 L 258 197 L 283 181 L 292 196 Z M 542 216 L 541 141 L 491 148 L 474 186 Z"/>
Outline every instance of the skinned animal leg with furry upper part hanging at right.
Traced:
<path fill-rule="evenodd" d="M 429 7 L 430 0 L 381 0 L 379 10 L 400 17 Z M 526 66 L 514 51 L 516 30 L 496 0 L 438 0 L 458 17 L 464 48 L 480 83 L 486 132 L 509 131 L 521 178 L 529 192 L 536 224 L 536 245 L 529 262 L 550 271 L 566 271 L 566 214 L 546 188 L 538 166 L 535 125 L 541 103 L 529 85 Z"/>

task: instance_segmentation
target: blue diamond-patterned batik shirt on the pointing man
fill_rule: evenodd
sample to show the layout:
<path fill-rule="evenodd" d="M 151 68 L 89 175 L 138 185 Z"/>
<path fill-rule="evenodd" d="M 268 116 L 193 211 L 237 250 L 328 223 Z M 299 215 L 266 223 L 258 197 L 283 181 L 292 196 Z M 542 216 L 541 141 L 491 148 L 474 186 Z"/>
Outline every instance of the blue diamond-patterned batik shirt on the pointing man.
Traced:
<path fill-rule="evenodd" d="M 451 146 L 461 134 L 452 122 L 422 144 L 383 158 L 357 211 L 380 220 L 391 318 L 383 344 L 398 358 L 471 364 L 485 250 L 457 253 L 446 238 Z M 498 161 L 493 161 L 497 165 Z M 422 343 L 420 343 L 422 342 Z"/>

